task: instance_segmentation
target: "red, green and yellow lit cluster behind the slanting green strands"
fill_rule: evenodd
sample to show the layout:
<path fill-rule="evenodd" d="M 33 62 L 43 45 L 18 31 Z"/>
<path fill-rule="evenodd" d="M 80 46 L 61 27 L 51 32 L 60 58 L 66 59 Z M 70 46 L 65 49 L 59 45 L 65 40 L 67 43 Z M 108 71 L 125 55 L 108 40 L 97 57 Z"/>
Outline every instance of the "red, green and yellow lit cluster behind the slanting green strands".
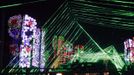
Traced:
<path fill-rule="evenodd" d="M 51 65 L 51 68 L 58 68 L 61 64 L 66 64 L 68 61 L 71 60 L 72 55 L 74 54 L 73 44 L 67 41 L 63 36 L 58 37 L 58 40 L 56 40 L 57 36 L 54 36 L 53 38 L 52 46 L 54 49 L 54 58 L 57 58 Z M 56 46 L 58 46 L 58 50 Z"/>

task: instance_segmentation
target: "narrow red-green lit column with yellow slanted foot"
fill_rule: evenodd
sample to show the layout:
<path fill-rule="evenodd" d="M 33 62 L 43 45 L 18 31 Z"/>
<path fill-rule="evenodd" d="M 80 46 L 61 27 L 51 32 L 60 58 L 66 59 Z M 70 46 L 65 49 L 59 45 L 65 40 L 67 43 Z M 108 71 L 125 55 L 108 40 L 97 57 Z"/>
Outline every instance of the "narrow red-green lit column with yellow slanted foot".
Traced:
<path fill-rule="evenodd" d="M 51 68 L 57 68 L 64 61 L 64 43 L 65 39 L 63 36 L 54 36 L 52 40 L 52 46 L 54 49 L 54 58 L 56 57 L 56 61 L 51 65 Z"/>

